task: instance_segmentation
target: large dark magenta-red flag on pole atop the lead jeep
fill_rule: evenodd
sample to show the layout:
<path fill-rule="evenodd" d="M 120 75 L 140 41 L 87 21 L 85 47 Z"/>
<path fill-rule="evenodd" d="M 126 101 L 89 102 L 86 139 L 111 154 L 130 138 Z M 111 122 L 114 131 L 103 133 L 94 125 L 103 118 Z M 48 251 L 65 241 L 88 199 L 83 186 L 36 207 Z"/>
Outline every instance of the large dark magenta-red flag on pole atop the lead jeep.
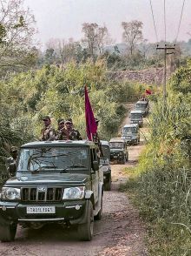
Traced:
<path fill-rule="evenodd" d="M 89 101 L 89 94 L 85 85 L 85 118 L 86 118 L 86 133 L 89 140 L 92 140 L 92 134 L 97 131 L 97 125 L 95 123 L 94 112 L 92 111 Z"/>

